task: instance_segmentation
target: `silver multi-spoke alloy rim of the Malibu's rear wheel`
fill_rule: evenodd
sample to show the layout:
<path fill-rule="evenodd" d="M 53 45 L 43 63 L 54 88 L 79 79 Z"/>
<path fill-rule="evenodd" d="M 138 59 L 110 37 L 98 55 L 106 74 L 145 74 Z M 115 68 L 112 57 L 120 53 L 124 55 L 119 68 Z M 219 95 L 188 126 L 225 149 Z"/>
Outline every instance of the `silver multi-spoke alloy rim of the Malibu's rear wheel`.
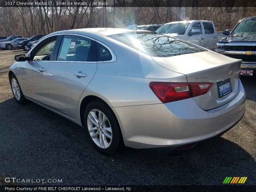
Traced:
<path fill-rule="evenodd" d="M 92 109 L 87 117 L 87 125 L 93 142 L 100 148 L 108 148 L 112 141 L 112 129 L 105 114 Z"/>

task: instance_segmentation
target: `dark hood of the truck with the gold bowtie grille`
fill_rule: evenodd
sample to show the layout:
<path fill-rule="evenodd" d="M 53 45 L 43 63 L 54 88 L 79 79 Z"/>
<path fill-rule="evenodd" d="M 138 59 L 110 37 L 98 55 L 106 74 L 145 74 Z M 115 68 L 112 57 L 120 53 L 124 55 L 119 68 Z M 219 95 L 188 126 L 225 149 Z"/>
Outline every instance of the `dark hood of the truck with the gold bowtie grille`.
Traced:
<path fill-rule="evenodd" d="M 229 35 L 220 39 L 220 43 L 256 42 L 256 34 Z"/>

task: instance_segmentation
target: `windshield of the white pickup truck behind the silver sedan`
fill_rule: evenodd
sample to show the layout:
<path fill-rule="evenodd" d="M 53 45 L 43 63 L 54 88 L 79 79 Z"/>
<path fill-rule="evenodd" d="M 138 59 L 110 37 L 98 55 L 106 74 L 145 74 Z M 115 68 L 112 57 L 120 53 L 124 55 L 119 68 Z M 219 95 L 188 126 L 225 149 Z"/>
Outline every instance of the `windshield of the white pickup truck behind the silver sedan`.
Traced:
<path fill-rule="evenodd" d="M 177 33 L 179 35 L 184 35 L 189 24 L 190 23 L 171 23 L 171 24 L 162 25 L 156 30 L 156 33 L 162 33 L 162 34 Z"/>

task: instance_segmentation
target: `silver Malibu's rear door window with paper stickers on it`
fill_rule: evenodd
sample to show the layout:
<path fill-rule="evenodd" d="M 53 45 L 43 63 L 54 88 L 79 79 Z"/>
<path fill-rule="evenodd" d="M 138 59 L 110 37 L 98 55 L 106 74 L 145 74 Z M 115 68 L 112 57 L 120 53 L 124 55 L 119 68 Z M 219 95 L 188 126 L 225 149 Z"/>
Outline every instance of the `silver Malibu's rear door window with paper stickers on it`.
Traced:
<path fill-rule="evenodd" d="M 64 35 L 57 60 L 97 61 L 96 42 L 82 36 Z"/>

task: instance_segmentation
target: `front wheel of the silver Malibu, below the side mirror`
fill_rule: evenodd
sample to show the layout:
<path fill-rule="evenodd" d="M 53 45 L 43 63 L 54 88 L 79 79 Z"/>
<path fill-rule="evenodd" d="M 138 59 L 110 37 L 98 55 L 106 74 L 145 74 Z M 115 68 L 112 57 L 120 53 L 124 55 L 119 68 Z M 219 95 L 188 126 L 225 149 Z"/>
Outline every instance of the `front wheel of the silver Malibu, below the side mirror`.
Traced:
<path fill-rule="evenodd" d="M 10 84 L 12 87 L 12 94 L 14 99 L 20 104 L 27 103 L 28 100 L 24 97 L 20 88 L 20 84 L 14 74 L 12 74 L 10 77 Z"/>

